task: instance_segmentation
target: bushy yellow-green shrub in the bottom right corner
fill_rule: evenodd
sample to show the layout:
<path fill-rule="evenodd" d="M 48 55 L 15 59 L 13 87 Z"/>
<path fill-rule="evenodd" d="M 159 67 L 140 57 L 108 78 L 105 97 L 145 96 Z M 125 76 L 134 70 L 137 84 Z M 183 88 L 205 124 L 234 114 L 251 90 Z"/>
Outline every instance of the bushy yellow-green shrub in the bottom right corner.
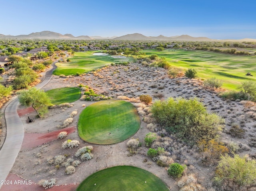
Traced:
<path fill-rule="evenodd" d="M 225 185 L 236 187 L 236 185 L 252 185 L 256 182 L 256 160 L 240 157 L 234 154 L 234 158 L 228 154 L 221 156 L 215 171 L 214 180 L 225 188 Z M 230 187 L 228 190 L 236 190 Z"/>

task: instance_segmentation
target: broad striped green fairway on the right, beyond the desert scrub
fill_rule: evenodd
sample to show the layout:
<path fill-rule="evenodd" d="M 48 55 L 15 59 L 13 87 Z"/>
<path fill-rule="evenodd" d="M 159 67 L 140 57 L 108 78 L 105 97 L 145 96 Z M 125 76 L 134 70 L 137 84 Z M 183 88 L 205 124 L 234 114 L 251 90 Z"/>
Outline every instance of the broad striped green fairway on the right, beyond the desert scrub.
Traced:
<path fill-rule="evenodd" d="M 184 71 L 195 68 L 198 78 L 216 77 L 223 80 L 223 88 L 236 90 L 246 80 L 256 81 L 256 56 L 240 56 L 200 50 L 143 51 L 146 55 L 166 57 L 172 66 Z M 246 76 L 250 72 L 253 76 Z"/>

